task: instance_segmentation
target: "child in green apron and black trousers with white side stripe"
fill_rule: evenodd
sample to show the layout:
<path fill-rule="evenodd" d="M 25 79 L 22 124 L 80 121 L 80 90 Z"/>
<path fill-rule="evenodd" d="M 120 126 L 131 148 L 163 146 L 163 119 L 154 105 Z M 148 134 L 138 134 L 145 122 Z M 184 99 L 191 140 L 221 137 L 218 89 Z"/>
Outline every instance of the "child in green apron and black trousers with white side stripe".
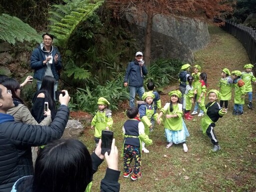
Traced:
<path fill-rule="evenodd" d="M 207 134 L 210 138 L 213 148 L 212 151 L 215 152 L 220 149 L 217 137 L 214 133 L 213 127 L 215 127 L 215 122 L 218 118 L 222 117 L 226 113 L 225 108 L 220 108 L 216 100 L 219 98 L 219 92 L 216 89 L 211 89 L 207 93 L 209 96 L 209 101 L 206 105 L 204 102 L 199 102 L 199 106 L 204 110 L 205 116 L 201 119 L 202 132 Z"/>

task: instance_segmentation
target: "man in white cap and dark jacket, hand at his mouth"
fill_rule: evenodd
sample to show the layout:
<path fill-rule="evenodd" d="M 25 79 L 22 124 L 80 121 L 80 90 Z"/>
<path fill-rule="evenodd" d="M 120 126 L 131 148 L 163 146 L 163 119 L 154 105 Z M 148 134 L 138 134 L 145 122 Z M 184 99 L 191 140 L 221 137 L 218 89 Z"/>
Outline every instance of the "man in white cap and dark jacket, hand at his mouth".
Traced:
<path fill-rule="evenodd" d="M 135 54 L 135 59 L 129 62 L 125 76 L 123 85 L 126 87 L 129 85 L 129 105 L 130 107 L 134 106 L 134 99 L 136 93 L 138 93 L 141 98 L 142 94 L 145 92 L 143 87 L 144 75 L 147 74 L 147 69 L 144 64 L 143 54 L 138 51 Z"/>

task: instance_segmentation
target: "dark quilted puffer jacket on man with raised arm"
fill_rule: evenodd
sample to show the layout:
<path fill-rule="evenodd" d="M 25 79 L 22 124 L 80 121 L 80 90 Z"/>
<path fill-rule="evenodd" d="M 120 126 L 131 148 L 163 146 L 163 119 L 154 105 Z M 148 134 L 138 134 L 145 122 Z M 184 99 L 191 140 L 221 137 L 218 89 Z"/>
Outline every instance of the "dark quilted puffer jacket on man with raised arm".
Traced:
<path fill-rule="evenodd" d="M 52 123 L 41 126 L 16 122 L 0 113 L 0 192 L 9 192 L 17 179 L 33 174 L 31 146 L 60 138 L 68 116 L 68 107 L 60 105 Z"/>

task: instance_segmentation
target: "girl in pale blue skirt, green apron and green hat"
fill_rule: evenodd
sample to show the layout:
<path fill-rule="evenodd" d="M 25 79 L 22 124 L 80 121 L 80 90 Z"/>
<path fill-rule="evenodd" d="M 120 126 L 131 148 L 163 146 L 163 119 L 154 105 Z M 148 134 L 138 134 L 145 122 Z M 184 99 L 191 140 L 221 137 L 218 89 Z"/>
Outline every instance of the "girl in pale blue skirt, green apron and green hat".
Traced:
<path fill-rule="evenodd" d="M 179 103 L 181 92 L 179 90 L 172 90 L 168 93 L 170 96 L 170 102 L 167 102 L 157 117 L 157 123 L 160 124 L 160 117 L 166 114 L 164 121 L 165 136 L 168 144 L 166 148 L 169 148 L 173 143 L 183 144 L 183 151 L 187 152 L 186 136 L 189 136 L 188 130 L 182 118 L 182 104 Z"/>

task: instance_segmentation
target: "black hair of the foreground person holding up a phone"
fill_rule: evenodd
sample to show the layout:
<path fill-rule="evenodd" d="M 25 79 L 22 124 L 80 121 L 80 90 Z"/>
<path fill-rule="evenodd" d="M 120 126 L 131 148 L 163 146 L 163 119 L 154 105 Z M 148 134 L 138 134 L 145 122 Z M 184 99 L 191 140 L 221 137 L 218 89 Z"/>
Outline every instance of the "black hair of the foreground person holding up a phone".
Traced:
<path fill-rule="evenodd" d="M 90 153 L 77 139 L 54 140 L 36 158 L 33 191 L 84 192 L 91 180 Z"/>

